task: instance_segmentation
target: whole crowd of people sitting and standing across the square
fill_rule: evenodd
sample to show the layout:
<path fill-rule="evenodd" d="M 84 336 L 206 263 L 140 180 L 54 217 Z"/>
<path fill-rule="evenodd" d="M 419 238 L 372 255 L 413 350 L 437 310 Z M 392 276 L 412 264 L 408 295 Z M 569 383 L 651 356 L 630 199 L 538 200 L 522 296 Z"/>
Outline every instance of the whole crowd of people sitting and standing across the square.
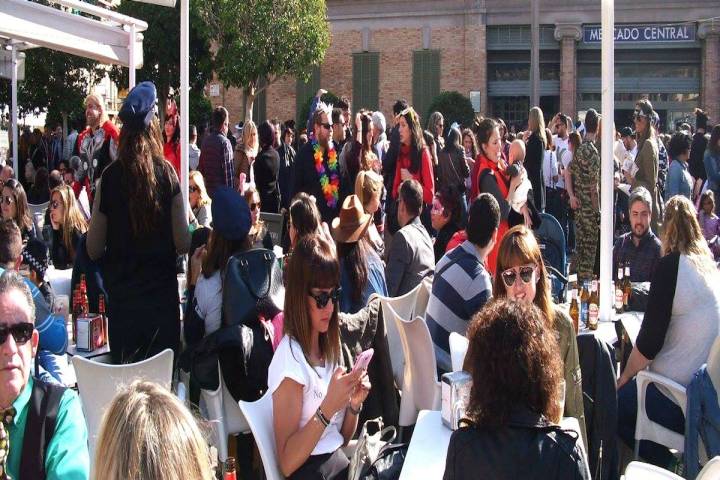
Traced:
<path fill-rule="evenodd" d="M 307 128 L 248 120 L 235 136 L 223 107 L 206 130 L 191 126 L 187 205 L 178 110 L 168 101 L 160 125 L 152 83 L 128 94 L 122 128 L 90 95 L 86 128 L 68 143 L 54 130 L 48 138 L 32 134 L 32 142 L 21 135 L 19 165 L 33 175 L 18 181 L 9 166 L 0 172 L 0 312 L 7 319 L 0 325 L 0 446 L 6 438 L 10 445 L 0 448 L 0 478 L 5 471 L 26 478 L 31 468 L 42 470 L 32 478 L 90 475 L 79 399 L 63 386 L 68 335 L 54 314 L 49 265 L 72 268 L 73 284 L 87 279 L 91 308 L 100 294 L 107 299 L 114 363 L 170 348 L 192 370 L 215 348 L 213 365 L 220 360 L 235 394 L 237 379 L 227 375 L 243 357 L 248 381 L 272 396 L 278 466 L 291 479 L 346 475 L 341 447 L 362 426 L 366 400 L 388 387 L 377 369 L 347 368 L 348 325 L 376 315 L 378 296 L 398 297 L 425 282 L 424 320 L 439 373 L 452 370 L 451 333 L 470 345 L 464 369 L 473 388 L 445 478 L 547 478 L 538 473 L 547 471 L 590 478 L 577 331 L 534 231 L 554 217 L 573 256 L 570 271 L 581 281 L 599 275 L 600 137 L 615 126 L 592 109 L 575 125 L 534 107 L 527 129 L 513 134 L 495 118 L 447 124 L 433 112 L 423 122 L 404 100 L 394 104 L 389 125 L 379 111 L 352 112 L 346 98 L 327 104 L 325 93 L 313 99 Z M 720 333 L 720 125 L 709 129 L 708 122 L 698 110 L 694 133 L 680 125 L 661 136 L 657 113 L 640 100 L 633 125 L 616 134 L 613 274 L 629 268 L 633 282 L 649 283 L 645 319 L 617 381 L 617 432 L 629 445 L 637 372 L 649 367 L 688 385 Z M 31 214 L 45 202 L 45 214 Z M 285 228 L 271 235 L 263 214 L 281 216 Z M 259 250 L 282 251 L 281 262 L 265 255 L 273 260 L 267 271 L 249 269 Z M 243 260 L 235 267 L 233 259 Z M 281 275 L 273 273 L 278 265 Z M 270 293 L 258 294 L 253 278 Z M 228 298 L 247 294 L 242 288 L 256 304 L 232 318 Z M 252 355 L 247 342 L 232 343 L 239 324 L 259 329 Z M 379 336 L 374 341 L 387 354 Z M 228 345 L 247 355 L 224 355 Z M 390 390 L 379 403 L 397 412 Z M 648 412 L 684 431 L 682 411 L 660 390 L 648 395 Z M 55 409 L 42 462 L 28 443 L 48 416 L 31 408 L 36 399 Z M 578 420 L 579 436 L 556 427 L 562 417 Z M 201 430 L 172 396 L 134 383 L 108 408 L 93 478 L 210 478 Z M 163 438 L 177 440 L 167 448 Z M 656 444 L 643 445 L 641 455 L 669 462 Z M 162 461 L 145 459 L 152 456 Z M 527 471 L 511 468 L 518 456 L 527 458 Z"/>

